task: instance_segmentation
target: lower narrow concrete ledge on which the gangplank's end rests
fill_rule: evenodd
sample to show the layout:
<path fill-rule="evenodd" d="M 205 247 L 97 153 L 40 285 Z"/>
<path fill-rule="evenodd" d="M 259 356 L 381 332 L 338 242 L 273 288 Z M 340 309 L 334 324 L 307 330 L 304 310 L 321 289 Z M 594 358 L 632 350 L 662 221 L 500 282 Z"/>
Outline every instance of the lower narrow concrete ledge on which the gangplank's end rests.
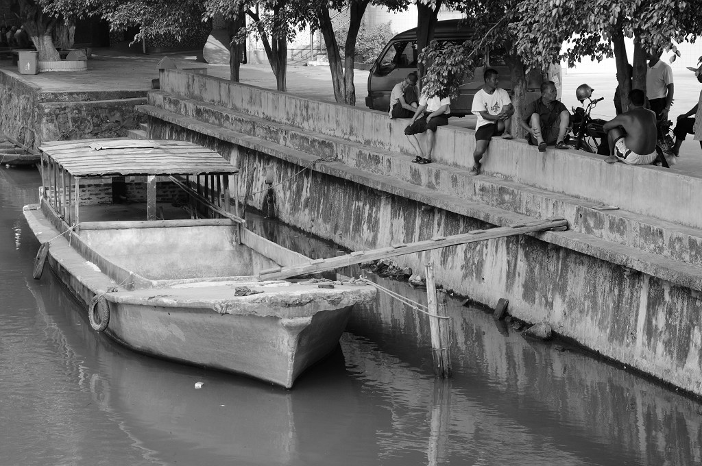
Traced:
<path fill-rule="evenodd" d="M 421 186 L 416 185 L 413 182 L 395 178 L 391 175 L 370 173 L 363 168 L 349 166 L 340 161 L 320 161 L 319 157 L 310 155 L 308 152 L 291 149 L 290 147 L 285 147 L 275 142 L 261 140 L 245 133 L 233 131 L 230 128 L 223 128 L 222 126 L 199 121 L 197 119 L 183 116 L 176 112 L 170 112 L 152 105 L 144 105 L 141 107 L 141 109 L 145 114 L 155 116 L 157 119 L 161 119 L 172 124 L 177 124 L 183 128 L 197 131 L 206 135 L 212 135 L 220 140 L 229 141 L 240 145 L 241 147 L 255 149 L 258 152 L 270 154 L 272 157 L 289 161 L 298 166 L 308 166 L 314 171 L 319 171 L 320 173 L 326 173 L 337 178 L 352 180 L 355 182 L 362 182 L 364 185 L 372 189 L 378 189 L 378 191 L 381 192 L 396 194 L 397 196 L 404 197 L 412 201 L 417 201 L 428 206 L 434 206 L 449 212 L 458 213 L 459 215 L 476 218 L 486 222 L 489 225 L 510 226 L 534 220 L 534 217 L 509 211 L 505 208 L 498 208 L 482 202 L 465 199 L 463 197 L 459 197 L 457 194 L 437 192 L 435 186 Z M 409 156 L 398 155 L 397 157 L 403 157 L 407 164 L 411 163 L 411 157 Z M 416 167 L 416 170 L 426 171 L 430 169 L 429 167 L 432 167 L 432 170 L 443 168 L 451 172 L 456 171 L 456 168 L 441 166 L 440 164 L 419 166 Z M 477 178 L 489 177 L 480 175 Z M 494 178 L 493 180 L 495 182 L 502 181 L 498 180 L 497 178 Z M 488 181 L 484 180 L 483 182 Z M 534 189 L 531 187 L 526 188 Z M 594 204 L 591 204 L 591 208 L 593 208 L 593 210 L 595 207 L 596 206 Z M 596 212 L 607 214 L 617 211 Z M 621 213 L 621 211 L 619 212 Z M 624 215 L 624 213 L 621 214 Z M 626 213 L 626 215 L 634 214 Z M 643 250 L 642 248 L 629 246 L 627 244 L 619 244 L 614 241 L 610 241 L 609 239 L 600 238 L 593 234 L 582 232 L 581 228 L 578 228 L 577 222 L 575 221 L 574 229 L 570 229 L 566 232 L 543 232 L 531 234 L 530 236 L 537 237 L 538 239 L 547 241 L 557 246 L 562 246 L 563 248 L 567 248 L 572 251 L 578 251 L 585 255 L 590 255 L 595 258 L 606 260 L 607 262 L 621 265 L 622 267 L 625 267 L 625 269 L 630 269 L 633 272 L 644 272 L 652 277 L 658 277 L 671 281 L 675 284 L 680 284 L 681 286 L 687 286 L 696 291 L 702 291 L 701 266 L 684 262 L 683 260 L 663 257 L 659 253 L 651 253 Z"/>

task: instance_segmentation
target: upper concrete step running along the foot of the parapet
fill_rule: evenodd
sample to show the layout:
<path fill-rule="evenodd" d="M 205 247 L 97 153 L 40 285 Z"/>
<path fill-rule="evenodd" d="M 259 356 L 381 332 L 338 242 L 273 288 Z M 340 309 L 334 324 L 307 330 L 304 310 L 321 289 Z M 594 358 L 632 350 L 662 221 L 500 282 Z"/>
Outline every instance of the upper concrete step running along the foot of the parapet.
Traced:
<path fill-rule="evenodd" d="M 152 99 L 153 97 L 153 99 Z M 702 265 L 702 230 L 624 211 L 617 206 L 550 192 L 444 164 L 417 166 L 413 157 L 295 126 L 241 114 L 231 109 L 171 95 L 150 94 L 150 102 L 176 114 L 221 122 L 239 133 L 318 157 L 338 157 L 367 173 L 428 187 L 449 196 L 530 217 L 566 218 L 574 231 L 623 246 Z M 546 213 L 544 213 L 546 212 Z M 683 247 L 684 246 L 684 247 Z"/>

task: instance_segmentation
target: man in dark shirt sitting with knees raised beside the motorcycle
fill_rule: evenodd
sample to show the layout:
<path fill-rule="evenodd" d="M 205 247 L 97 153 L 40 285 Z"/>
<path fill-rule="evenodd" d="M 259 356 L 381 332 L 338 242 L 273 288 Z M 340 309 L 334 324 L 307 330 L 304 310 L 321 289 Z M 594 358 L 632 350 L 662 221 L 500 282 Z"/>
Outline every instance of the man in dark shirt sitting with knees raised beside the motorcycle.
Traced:
<path fill-rule="evenodd" d="M 556 85 L 553 81 L 541 84 L 541 97 L 527 105 L 524 119 L 519 121 L 529 131 L 529 144 L 538 145 L 539 152 L 544 152 L 547 145 L 556 149 L 567 149 L 564 142 L 570 125 L 570 113 L 557 98 Z"/>

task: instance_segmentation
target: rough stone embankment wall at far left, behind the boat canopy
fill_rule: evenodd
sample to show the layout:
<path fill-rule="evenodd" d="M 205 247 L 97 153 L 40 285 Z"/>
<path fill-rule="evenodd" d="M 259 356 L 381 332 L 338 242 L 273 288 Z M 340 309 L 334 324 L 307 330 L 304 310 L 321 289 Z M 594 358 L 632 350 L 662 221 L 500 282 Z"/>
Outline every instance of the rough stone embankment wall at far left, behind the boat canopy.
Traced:
<path fill-rule="evenodd" d="M 145 121 L 135 105 L 144 91 L 44 92 L 0 70 L 2 133 L 29 147 L 43 141 L 126 136 Z"/>

